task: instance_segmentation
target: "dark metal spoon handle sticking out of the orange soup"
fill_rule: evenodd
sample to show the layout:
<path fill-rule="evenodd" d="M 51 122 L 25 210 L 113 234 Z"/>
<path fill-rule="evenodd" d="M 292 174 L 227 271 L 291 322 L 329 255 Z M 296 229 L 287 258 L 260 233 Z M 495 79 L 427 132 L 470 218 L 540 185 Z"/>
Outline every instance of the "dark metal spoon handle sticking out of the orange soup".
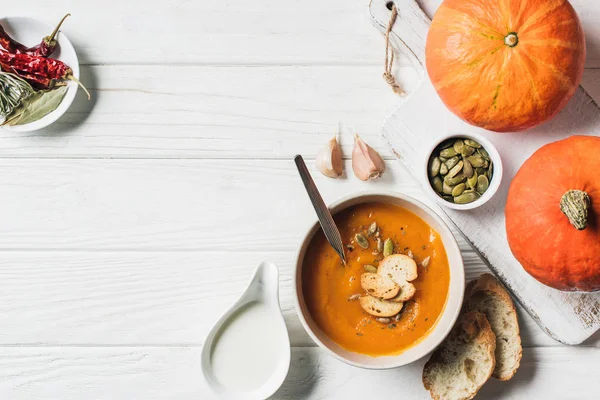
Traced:
<path fill-rule="evenodd" d="M 346 264 L 346 254 L 344 252 L 344 242 L 342 242 L 342 236 L 340 235 L 340 231 L 335 225 L 333 217 L 325 205 L 325 202 L 323 201 L 315 182 L 312 180 L 310 172 L 308 172 L 308 168 L 306 168 L 304 159 L 298 154 L 294 157 L 294 162 L 296 163 L 298 173 L 300 173 L 300 178 L 302 178 L 302 183 L 304 183 L 304 187 L 306 188 L 306 193 L 308 193 L 310 202 L 315 208 L 317 217 L 319 217 L 319 223 L 321 224 L 321 228 L 323 228 L 323 232 L 325 233 L 327 241 L 331 247 L 333 247 L 336 253 L 338 253 L 344 264 Z"/>

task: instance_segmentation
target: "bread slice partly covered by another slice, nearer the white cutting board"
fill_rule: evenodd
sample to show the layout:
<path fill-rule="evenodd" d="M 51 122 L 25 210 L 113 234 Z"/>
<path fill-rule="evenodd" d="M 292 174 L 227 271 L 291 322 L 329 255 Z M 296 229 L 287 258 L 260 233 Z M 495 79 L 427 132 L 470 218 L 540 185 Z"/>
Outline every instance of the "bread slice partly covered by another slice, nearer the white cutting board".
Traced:
<path fill-rule="evenodd" d="M 496 368 L 492 376 L 507 381 L 514 376 L 521 363 L 521 336 L 515 305 L 500 282 L 483 274 L 469 282 L 465 293 L 464 311 L 485 314 L 496 335 Z"/>

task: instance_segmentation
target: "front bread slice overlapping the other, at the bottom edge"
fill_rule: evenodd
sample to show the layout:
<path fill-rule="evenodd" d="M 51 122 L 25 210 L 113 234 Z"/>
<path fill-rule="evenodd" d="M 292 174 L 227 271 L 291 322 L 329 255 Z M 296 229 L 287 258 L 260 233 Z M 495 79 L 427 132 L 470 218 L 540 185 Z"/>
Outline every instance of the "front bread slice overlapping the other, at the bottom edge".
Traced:
<path fill-rule="evenodd" d="M 494 371 L 496 336 L 485 314 L 459 317 L 423 369 L 423 385 L 435 400 L 469 400 Z"/>

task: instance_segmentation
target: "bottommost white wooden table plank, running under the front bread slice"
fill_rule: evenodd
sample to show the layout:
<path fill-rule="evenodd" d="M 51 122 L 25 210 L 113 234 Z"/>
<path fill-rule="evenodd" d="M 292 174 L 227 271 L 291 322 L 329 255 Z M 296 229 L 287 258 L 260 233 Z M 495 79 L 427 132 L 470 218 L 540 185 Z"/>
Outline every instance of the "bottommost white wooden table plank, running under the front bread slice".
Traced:
<path fill-rule="evenodd" d="M 508 382 L 490 380 L 481 399 L 597 398 L 600 349 L 525 349 Z M 212 399 L 200 370 L 199 347 L 1 348 L 0 397 L 11 400 Z M 350 367 L 317 348 L 294 348 L 290 373 L 273 396 L 287 399 L 428 399 L 425 360 L 387 370 Z M 560 377 L 560 378 L 557 378 Z"/>

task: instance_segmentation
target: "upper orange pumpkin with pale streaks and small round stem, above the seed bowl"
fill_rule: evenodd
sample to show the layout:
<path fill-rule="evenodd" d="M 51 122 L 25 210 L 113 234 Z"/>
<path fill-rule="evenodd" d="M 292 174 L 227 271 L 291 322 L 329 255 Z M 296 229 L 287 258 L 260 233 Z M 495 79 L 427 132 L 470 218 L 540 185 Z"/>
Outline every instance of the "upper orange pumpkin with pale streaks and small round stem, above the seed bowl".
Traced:
<path fill-rule="evenodd" d="M 585 39 L 566 0 L 444 0 L 426 63 L 458 117 L 498 132 L 554 117 L 579 86 Z"/>

